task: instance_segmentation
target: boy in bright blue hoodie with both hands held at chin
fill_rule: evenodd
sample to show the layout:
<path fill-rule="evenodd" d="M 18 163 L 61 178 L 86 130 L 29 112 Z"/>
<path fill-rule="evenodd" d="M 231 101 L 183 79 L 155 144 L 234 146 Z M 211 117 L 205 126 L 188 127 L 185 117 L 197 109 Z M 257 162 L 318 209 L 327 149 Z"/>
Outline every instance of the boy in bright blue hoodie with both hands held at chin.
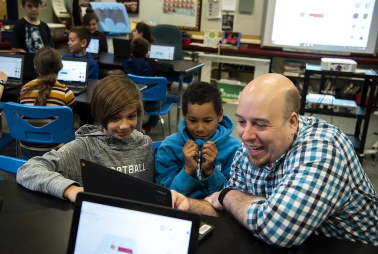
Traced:
<path fill-rule="evenodd" d="M 183 96 L 177 133 L 164 139 L 155 159 L 155 180 L 186 196 L 203 199 L 222 190 L 241 143 L 229 136 L 234 124 L 223 115 L 222 93 L 206 82 L 191 84 Z"/>

